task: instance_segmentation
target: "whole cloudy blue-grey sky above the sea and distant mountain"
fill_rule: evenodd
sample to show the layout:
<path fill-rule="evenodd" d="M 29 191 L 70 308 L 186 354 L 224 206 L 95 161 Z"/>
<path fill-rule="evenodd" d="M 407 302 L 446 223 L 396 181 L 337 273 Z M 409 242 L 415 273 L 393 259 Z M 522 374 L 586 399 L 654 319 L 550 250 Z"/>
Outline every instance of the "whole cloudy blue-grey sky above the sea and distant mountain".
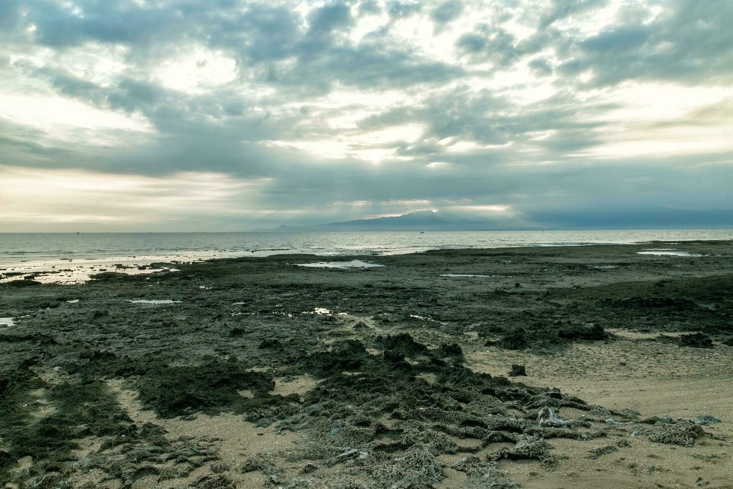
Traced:
<path fill-rule="evenodd" d="M 0 0 L 0 232 L 733 227 L 732 0 Z"/>

